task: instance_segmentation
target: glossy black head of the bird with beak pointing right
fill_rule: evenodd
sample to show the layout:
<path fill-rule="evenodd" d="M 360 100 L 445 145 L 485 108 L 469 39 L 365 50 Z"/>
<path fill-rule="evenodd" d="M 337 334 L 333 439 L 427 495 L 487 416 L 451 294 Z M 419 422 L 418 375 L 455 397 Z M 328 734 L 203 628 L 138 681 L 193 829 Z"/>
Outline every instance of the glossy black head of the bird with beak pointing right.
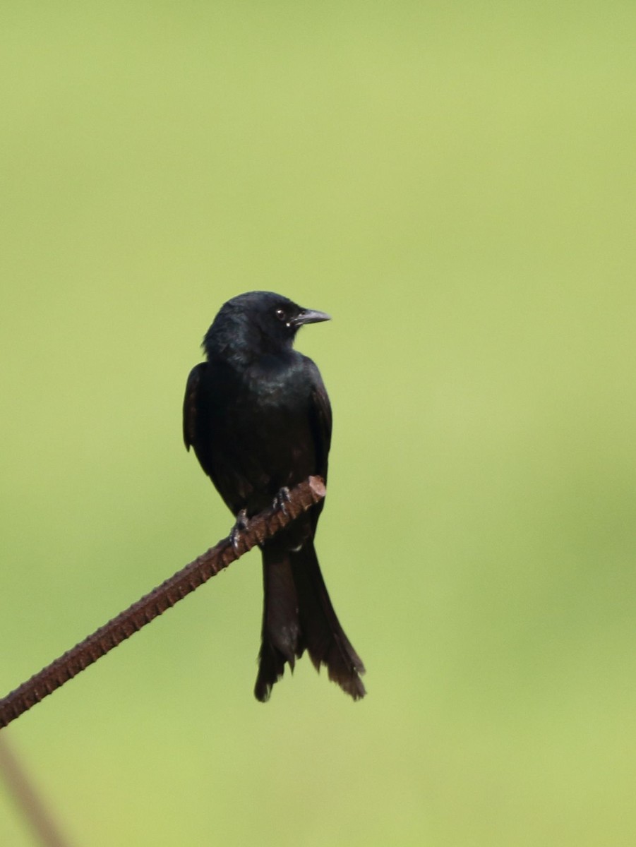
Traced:
<path fill-rule="evenodd" d="M 248 291 L 220 308 L 203 340 L 208 358 L 255 357 L 289 348 L 304 324 L 329 315 L 298 306 L 273 291 Z"/>

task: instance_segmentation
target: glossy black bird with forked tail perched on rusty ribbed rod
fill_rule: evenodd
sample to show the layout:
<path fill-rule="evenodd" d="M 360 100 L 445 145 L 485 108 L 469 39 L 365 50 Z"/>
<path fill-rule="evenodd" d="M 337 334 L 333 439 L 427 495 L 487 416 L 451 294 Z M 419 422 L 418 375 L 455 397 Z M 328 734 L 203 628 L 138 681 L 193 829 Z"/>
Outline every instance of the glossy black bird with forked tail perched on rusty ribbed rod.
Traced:
<path fill-rule="evenodd" d="M 207 362 L 185 388 L 185 446 L 241 520 L 283 501 L 312 474 L 327 480 L 331 407 L 316 365 L 293 350 L 303 324 L 329 320 L 271 291 L 221 307 L 203 339 Z M 360 657 L 340 627 L 313 546 L 323 502 L 263 544 L 263 631 L 254 694 L 268 700 L 287 662 L 314 666 L 358 700 Z"/>

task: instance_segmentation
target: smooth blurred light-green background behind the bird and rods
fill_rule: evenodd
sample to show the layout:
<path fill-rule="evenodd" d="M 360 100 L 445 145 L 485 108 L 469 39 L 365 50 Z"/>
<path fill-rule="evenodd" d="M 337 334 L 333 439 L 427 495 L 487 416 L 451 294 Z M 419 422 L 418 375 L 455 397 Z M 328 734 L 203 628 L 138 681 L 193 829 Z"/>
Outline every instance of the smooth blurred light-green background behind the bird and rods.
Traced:
<path fill-rule="evenodd" d="M 227 534 L 222 302 L 334 316 L 368 667 L 252 697 L 257 553 L 3 738 L 82 845 L 636 843 L 636 7 L 3 4 L 6 693 Z M 34 844 L 0 787 L 0 843 Z"/>

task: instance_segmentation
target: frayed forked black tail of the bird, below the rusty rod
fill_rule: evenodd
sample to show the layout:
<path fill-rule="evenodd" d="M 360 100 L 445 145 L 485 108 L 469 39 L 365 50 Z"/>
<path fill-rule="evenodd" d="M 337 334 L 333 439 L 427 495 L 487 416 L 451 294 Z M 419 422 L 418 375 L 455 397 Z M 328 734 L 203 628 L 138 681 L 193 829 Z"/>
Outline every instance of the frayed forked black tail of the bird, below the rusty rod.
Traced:
<path fill-rule="evenodd" d="M 281 545 L 263 547 L 263 634 L 257 700 L 268 700 L 285 662 L 294 669 L 305 649 L 317 670 L 326 665 L 329 679 L 359 700 L 365 695 L 364 665 L 340 626 L 329 600 L 313 542 L 298 551 Z"/>

